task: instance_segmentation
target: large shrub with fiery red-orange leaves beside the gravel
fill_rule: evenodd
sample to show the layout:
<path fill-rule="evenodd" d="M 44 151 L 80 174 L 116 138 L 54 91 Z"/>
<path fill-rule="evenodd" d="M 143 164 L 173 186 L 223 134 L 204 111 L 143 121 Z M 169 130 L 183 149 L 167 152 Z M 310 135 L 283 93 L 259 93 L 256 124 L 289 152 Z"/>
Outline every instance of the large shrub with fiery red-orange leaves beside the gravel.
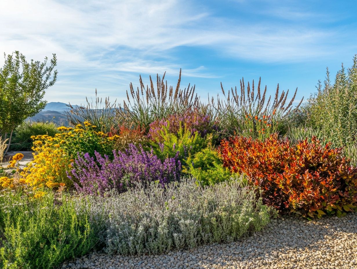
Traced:
<path fill-rule="evenodd" d="M 342 149 L 322 146 L 315 137 L 292 145 L 276 134 L 265 141 L 237 136 L 222 141 L 220 151 L 225 166 L 247 174 L 263 201 L 282 212 L 321 217 L 357 206 L 357 168 Z"/>

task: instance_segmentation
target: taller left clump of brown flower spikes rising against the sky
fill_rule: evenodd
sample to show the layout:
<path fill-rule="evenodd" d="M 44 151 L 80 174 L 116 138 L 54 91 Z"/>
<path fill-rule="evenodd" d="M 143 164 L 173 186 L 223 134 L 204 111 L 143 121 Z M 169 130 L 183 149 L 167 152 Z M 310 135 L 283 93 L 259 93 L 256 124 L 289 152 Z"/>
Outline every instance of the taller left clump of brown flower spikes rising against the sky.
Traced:
<path fill-rule="evenodd" d="M 187 89 L 180 89 L 181 70 L 176 88 L 167 86 L 165 73 L 162 78 L 156 76 L 156 89 L 150 76 L 150 86 L 145 87 L 140 76 L 140 89 L 134 90 L 130 83 L 130 93 L 126 91 L 127 103 L 124 109 L 117 111 L 117 122 L 122 125 L 141 126 L 145 132 L 149 131 L 150 123 L 157 119 L 166 118 L 172 114 L 182 114 L 200 107 L 200 101 L 195 95 L 195 86 L 188 84 Z"/>

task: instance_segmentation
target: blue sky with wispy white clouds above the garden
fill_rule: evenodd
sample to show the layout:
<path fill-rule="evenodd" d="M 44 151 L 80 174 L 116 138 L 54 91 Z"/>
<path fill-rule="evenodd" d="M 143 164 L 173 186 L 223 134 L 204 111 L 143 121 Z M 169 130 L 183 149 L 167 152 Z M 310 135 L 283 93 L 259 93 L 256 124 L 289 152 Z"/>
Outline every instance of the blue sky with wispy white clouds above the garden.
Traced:
<path fill-rule="evenodd" d="M 73 3 L 75 2 L 75 3 Z M 166 71 L 201 100 L 239 80 L 275 93 L 315 92 L 357 53 L 357 2 L 350 1 L 7 1 L 0 0 L 0 51 L 42 60 L 56 53 L 58 80 L 45 99 L 72 104 L 110 96 Z M 4 60 L 0 59 L 2 65 Z"/>

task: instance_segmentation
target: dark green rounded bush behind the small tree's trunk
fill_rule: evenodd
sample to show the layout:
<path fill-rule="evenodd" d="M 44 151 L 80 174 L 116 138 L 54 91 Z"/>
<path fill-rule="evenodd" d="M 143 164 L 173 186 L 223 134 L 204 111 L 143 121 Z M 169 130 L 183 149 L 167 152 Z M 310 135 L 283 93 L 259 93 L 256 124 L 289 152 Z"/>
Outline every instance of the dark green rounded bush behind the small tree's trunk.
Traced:
<path fill-rule="evenodd" d="M 17 126 L 14 133 L 15 136 L 12 140 L 10 149 L 14 151 L 30 151 L 32 148 L 31 136 L 55 136 L 55 134 L 59 133 L 59 131 L 57 130 L 56 124 L 52 122 L 23 122 L 21 125 Z"/>

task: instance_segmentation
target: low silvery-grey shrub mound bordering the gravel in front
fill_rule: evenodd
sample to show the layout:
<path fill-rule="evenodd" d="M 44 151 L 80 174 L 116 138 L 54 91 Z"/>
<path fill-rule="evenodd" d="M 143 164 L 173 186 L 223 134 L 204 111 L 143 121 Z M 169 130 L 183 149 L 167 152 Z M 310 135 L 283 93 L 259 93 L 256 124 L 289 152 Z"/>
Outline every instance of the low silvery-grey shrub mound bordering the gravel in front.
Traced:
<path fill-rule="evenodd" d="M 171 249 L 233 241 L 269 222 L 271 208 L 238 182 L 197 186 L 194 180 L 152 183 L 126 193 L 88 198 L 92 225 L 105 220 L 109 254 L 160 254 Z"/>

